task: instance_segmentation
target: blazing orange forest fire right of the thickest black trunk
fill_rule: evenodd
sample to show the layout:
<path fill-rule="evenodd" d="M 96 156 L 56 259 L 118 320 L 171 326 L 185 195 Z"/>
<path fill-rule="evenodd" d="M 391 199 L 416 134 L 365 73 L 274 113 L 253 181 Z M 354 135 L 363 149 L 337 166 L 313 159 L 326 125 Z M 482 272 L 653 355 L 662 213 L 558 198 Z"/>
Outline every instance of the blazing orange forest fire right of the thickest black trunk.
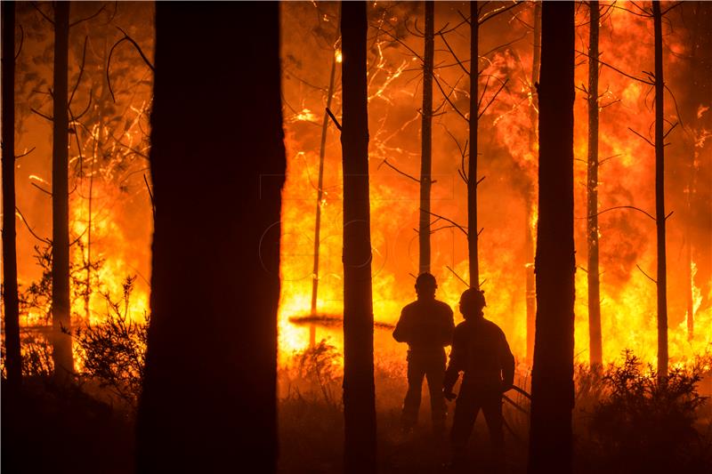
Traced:
<path fill-rule="evenodd" d="M 285 7 L 288 12 L 295 12 L 295 17 L 287 16 L 288 29 L 295 28 L 293 35 L 301 28 L 317 28 L 297 25 L 308 7 L 292 5 Z M 312 8 L 312 7 L 309 7 Z M 320 7 L 332 16 L 327 6 Z M 457 4 L 439 5 L 436 23 L 441 25 L 457 24 Z M 376 7 L 377 10 L 377 7 Z M 408 18 L 415 15 L 408 7 L 387 6 L 380 11 L 381 16 L 372 21 L 373 29 L 369 38 L 373 42 L 369 56 L 369 123 L 371 124 L 370 169 L 371 169 L 371 220 L 374 229 L 374 301 L 377 321 L 393 324 L 400 315 L 400 309 L 414 297 L 413 277 L 417 273 L 417 183 L 383 165 L 387 159 L 405 173 L 417 177 L 417 95 L 420 82 L 417 80 L 417 67 L 409 64 L 408 56 L 422 49 L 422 39 L 406 34 L 398 41 L 391 36 L 389 28 L 397 28 Z M 504 15 L 506 16 L 506 15 Z M 291 20 L 294 18 L 295 20 Z M 376 17 L 375 17 L 376 18 Z M 535 182 L 537 176 L 537 142 L 532 141 L 531 113 L 536 104 L 532 102 L 531 61 L 533 44 L 531 40 L 532 10 L 522 9 L 510 18 L 503 18 L 498 23 L 485 28 L 481 36 L 483 51 L 494 49 L 481 61 L 484 67 L 481 87 L 491 77 L 491 84 L 509 78 L 508 87 L 492 102 L 490 109 L 482 116 L 486 128 L 481 130 L 484 137 L 484 150 L 481 161 L 486 179 L 481 183 L 480 196 L 484 200 L 480 205 L 481 222 L 484 231 L 481 234 L 481 279 L 486 280 L 483 289 L 488 296 L 489 317 L 506 328 L 515 355 L 523 359 L 526 356 L 526 309 L 525 309 L 525 269 L 533 261 L 525 261 L 522 247 L 523 230 L 526 229 L 526 193 L 528 182 Z M 580 8 L 577 24 L 587 28 L 587 12 Z M 383 30 L 378 30 L 377 25 Z M 319 23 L 318 28 L 334 28 L 333 22 Z M 329 30 L 331 31 L 331 30 Z M 506 32 L 505 32 L 506 31 Z M 412 32 L 412 30 L 411 30 Z M 333 34 L 333 32 L 332 32 Z M 327 33 L 324 33 L 328 36 Z M 666 64 L 669 68 L 669 90 L 671 98 L 678 104 L 694 102 L 694 98 L 684 97 L 688 92 L 684 84 L 683 57 L 689 52 L 680 31 L 672 30 L 667 37 L 668 50 Z M 312 253 L 299 253 L 298 249 L 310 249 L 313 245 L 312 229 L 314 225 L 314 197 L 316 196 L 315 176 L 319 167 L 320 129 L 303 124 L 306 120 L 300 114 L 292 113 L 289 104 L 296 98 L 300 107 L 310 110 L 323 108 L 326 81 L 328 79 L 328 60 L 319 58 L 315 66 L 310 63 L 296 63 L 292 58 L 303 58 L 304 51 L 320 47 L 320 54 L 328 57 L 329 44 L 322 42 L 320 36 L 310 38 L 312 43 L 296 43 L 287 35 L 283 56 L 287 58 L 285 74 L 286 117 L 289 125 L 287 132 L 287 185 L 285 187 L 285 207 L 283 210 L 285 232 L 283 234 L 282 290 L 279 311 L 282 334 L 281 349 L 304 349 L 309 344 L 307 327 L 295 328 L 289 323 L 289 317 L 309 314 L 312 295 Z M 465 44 L 461 38 L 453 36 L 449 43 L 458 57 L 467 57 Z M 514 44 L 509 44 L 514 38 Z M 641 41 L 641 38 L 645 38 Z M 466 38 L 465 38 L 466 39 Z M 601 171 L 599 181 L 601 238 L 601 301 L 603 318 L 603 354 L 606 361 L 620 357 L 624 349 L 632 349 L 636 355 L 646 361 L 656 359 L 656 309 L 654 279 L 655 267 L 655 225 L 648 217 L 634 209 L 614 209 L 620 205 L 635 206 L 649 213 L 654 208 L 654 149 L 635 133 L 647 136 L 653 121 L 651 108 L 651 86 L 631 79 L 629 76 L 643 76 L 645 70 L 651 70 L 651 21 L 630 14 L 620 8 L 606 9 L 602 20 L 600 49 L 602 61 L 611 67 L 603 66 L 600 74 L 600 156 Z M 499 43 L 506 44 L 498 47 Z M 459 48 L 459 49 L 458 49 Z M 497 48 L 497 49 L 495 49 Z M 587 77 L 587 41 L 577 43 L 578 67 L 576 84 L 585 89 Z M 415 58 L 413 58 L 415 59 Z M 452 54 L 442 46 L 435 55 L 435 62 L 452 65 L 456 62 Z M 319 72 L 318 64 L 321 64 Z M 614 68 L 624 71 L 621 73 Z M 452 99 L 461 105 L 466 90 L 462 85 L 463 71 L 457 67 L 438 69 L 436 76 L 445 84 L 455 86 Z M 683 81 L 676 87 L 676 81 Z M 312 84 L 312 85 L 309 85 Z M 485 101 L 489 101 L 497 87 L 490 85 L 485 92 Z M 449 91 L 449 89 L 447 89 Z M 579 97 L 586 94 L 578 91 Z M 307 101 L 309 100 L 309 101 Z M 335 99 L 338 100 L 338 94 Z M 458 101 L 459 100 L 459 101 Z M 698 100 L 704 102 L 700 97 Z M 666 116 L 670 125 L 678 121 L 676 102 L 668 100 Z M 704 102 L 707 103 L 707 102 Z M 575 180 L 578 271 L 576 277 L 576 354 L 580 362 L 588 359 L 588 321 L 587 321 L 587 270 L 586 255 L 586 156 L 587 156 L 587 103 L 579 98 L 575 102 Z M 294 104 L 296 105 L 296 104 Z M 703 103 L 692 107 L 702 110 Z M 332 106 L 333 109 L 337 109 Z M 465 224 L 465 183 L 457 176 L 461 153 L 448 133 L 459 135 L 460 146 L 465 142 L 462 133 L 463 120 L 445 104 L 448 110 L 437 117 L 435 127 L 433 170 L 440 175 L 433 185 L 433 213 L 447 216 Z M 670 135 L 673 145 L 668 148 L 670 159 L 667 173 L 672 183 L 667 187 L 667 207 L 674 211 L 669 221 L 667 245 L 671 250 L 669 261 L 671 283 L 670 293 L 670 357 L 675 364 L 694 363 L 695 356 L 708 352 L 712 343 L 712 310 L 708 302 L 712 290 L 712 280 L 708 272 L 709 246 L 705 245 L 708 229 L 700 228 L 700 223 L 690 221 L 685 214 L 687 196 L 692 189 L 685 182 L 689 173 L 698 170 L 700 176 L 708 171 L 703 155 L 709 157 L 705 138 L 709 134 L 708 111 L 697 118 L 700 122 L 686 124 L 684 131 L 678 130 Z M 315 119 L 309 119 L 316 122 Z M 706 125 L 705 125 L 706 124 Z M 678 125 L 679 126 L 679 125 Z M 328 131 L 328 153 L 325 165 L 325 186 L 327 192 L 322 205 L 320 243 L 320 285 L 319 311 L 339 314 L 341 310 L 340 278 L 341 266 L 341 182 L 340 148 L 338 132 L 334 125 Z M 628 129 L 632 129 L 628 130 Z M 534 137 L 536 138 L 536 137 Z M 690 144 L 697 144 L 692 148 Z M 706 148 L 707 147 L 707 148 Z M 702 150 L 705 150 L 704 152 Z M 696 159 L 691 154 L 698 156 Z M 693 161 L 694 160 L 694 161 Z M 708 161 L 708 160 L 707 160 Z M 708 205 L 708 189 L 692 191 L 699 199 L 697 205 Z M 530 226 L 536 232 L 536 198 L 530 200 Z M 700 209 L 701 211 L 701 209 Z M 433 217 L 433 221 L 436 220 Z M 441 221 L 443 223 L 444 221 Z M 707 225 L 707 224 L 703 224 Z M 698 242 L 695 245 L 692 242 Z M 696 269 L 694 260 L 688 261 L 684 250 L 692 245 L 694 258 L 705 261 L 705 270 Z M 457 229 L 444 229 L 433 234 L 433 246 L 438 249 L 438 256 L 433 259 L 433 273 L 440 280 L 439 295 L 453 307 L 465 285 L 459 281 L 450 267 L 459 277 L 469 279 L 466 272 L 466 238 Z M 679 256 L 678 256 L 679 255 Z M 376 269 L 378 269 L 376 271 Z M 673 277 L 673 273 L 679 277 Z M 694 277 L 689 275 L 694 274 Z M 686 299 L 693 294 L 692 319 L 698 331 L 688 333 Z M 288 335 L 287 335 L 288 334 Z M 331 338 L 336 345 L 340 336 L 335 330 L 318 330 L 318 338 Z M 387 341 L 387 338 L 384 338 Z M 387 342 L 385 342 L 387 343 Z M 387 349 L 383 348 L 387 351 Z M 377 350 L 377 349 L 376 349 Z"/>

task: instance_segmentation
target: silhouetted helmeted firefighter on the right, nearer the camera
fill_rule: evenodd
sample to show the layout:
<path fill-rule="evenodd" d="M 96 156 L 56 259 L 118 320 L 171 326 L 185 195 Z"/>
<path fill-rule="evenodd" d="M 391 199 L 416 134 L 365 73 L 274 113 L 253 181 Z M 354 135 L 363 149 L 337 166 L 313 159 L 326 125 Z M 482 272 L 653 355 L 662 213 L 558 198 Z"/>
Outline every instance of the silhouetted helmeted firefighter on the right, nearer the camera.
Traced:
<path fill-rule="evenodd" d="M 464 372 L 455 405 L 455 419 L 450 437 L 453 465 L 462 466 L 467 440 L 480 409 L 490 430 L 494 462 L 502 462 L 502 394 L 514 383 L 514 356 L 499 326 L 484 318 L 487 306 L 484 293 L 474 288 L 460 297 L 460 312 L 465 321 L 457 325 L 452 338 L 450 362 L 445 373 L 443 395 L 452 400 L 452 388 Z"/>

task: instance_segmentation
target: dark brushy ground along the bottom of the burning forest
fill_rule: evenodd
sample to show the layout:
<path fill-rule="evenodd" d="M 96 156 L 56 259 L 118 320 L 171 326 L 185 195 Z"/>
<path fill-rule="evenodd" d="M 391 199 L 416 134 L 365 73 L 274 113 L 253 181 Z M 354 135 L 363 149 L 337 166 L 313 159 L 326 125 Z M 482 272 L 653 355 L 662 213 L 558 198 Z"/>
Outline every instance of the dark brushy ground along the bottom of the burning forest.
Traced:
<path fill-rule="evenodd" d="M 610 394 L 603 394 L 600 377 L 586 372 L 577 376 L 575 472 L 712 472 L 712 409 L 701 398 L 700 403 L 691 404 L 697 398 L 684 392 L 691 390 L 689 385 L 679 385 L 680 393 L 667 390 L 650 399 L 632 393 L 608 403 Z M 520 380 L 520 384 L 525 382 Z M 700 393 L 706 394 L 708 386 L 712 386 L 709 378 L 696 383 L 693 390 L 696 394 L 701 389 Z M 280 388 L 279 472 L 341 472 L 344 425 L 340 384 L 335 374 L 324 366 L 306 364 L 301 370 L 293 368 L 288 374 L 281 374 Z M 425 390 L 420 425 L 408 436 L 401 433 L 404 391 L 400 369 L 379 370 L 379 470 L 449 472 L 449 443 L 447 437 L 433 437 Z M 108 398 L 98 398 L 102 397 L 97 397 L 97 388 L 91 382 L 84 382 L 81 388 L 58 388 L 41 377 L 27 379 L 20 394 L 3 390 L 2 472 L 133 472 L 133 411 L 109 403 Z M 513 398 L 520 408 L 506 404 L 509 428 L 505 471 L 514 474 L 526 471 L 529 424 L 522 408 L 526 411 L 529 406 L 525 399 Z M 450 413 L 449 422 L 451 418 Z M 489 446 L 480 417 L 471 439 L 470 469 L 466 472 L 492 472 Z M 247 471 L 226 467 L 225 472 Z"/>

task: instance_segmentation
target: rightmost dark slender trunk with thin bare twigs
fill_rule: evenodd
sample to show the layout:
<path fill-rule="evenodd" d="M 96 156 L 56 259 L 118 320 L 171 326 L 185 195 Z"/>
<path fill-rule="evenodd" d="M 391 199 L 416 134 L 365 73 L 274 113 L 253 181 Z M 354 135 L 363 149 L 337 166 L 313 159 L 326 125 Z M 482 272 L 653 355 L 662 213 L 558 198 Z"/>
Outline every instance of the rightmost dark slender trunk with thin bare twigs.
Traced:
<path fill-rule="evenodd" d="M 667 257 L 665 250 L 665 125 L 662 71 L 662 15 L 660 2 L 652 2 L 655 35 L 655 222 L 658 236 L 658 375 L 667 376 Z"/>

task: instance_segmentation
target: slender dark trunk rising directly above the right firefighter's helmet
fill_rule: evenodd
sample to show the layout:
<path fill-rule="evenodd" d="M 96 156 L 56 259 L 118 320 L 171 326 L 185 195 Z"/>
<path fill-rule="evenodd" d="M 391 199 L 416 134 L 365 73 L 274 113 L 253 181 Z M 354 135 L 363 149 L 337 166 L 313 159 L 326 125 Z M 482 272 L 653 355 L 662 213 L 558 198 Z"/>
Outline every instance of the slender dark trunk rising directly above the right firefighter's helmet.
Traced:
<path fill-rule="evenodd" d="M 480 257 L 477 253 L 477 130 L 480 115 L 480 22 L 479 2 L 470 2 L 470 159 L 467 170 L 467 253 L 470 287 L 480 287 Z"/>

